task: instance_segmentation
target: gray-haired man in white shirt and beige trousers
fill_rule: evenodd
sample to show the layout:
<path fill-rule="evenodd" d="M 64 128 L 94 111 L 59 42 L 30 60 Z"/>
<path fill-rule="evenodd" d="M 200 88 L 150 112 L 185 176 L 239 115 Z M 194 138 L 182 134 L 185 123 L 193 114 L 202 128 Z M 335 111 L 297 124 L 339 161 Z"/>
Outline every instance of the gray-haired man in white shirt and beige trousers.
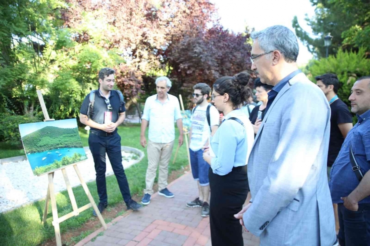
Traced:
<path fill-rule="evenodd" d="M 149 124 L 147 142 L 148 166 L 145 175 L 145 190 L 141 203 L 148 205 L 153 194 L 153 184 L 158 172 L 158 194 L 166 198 L 173 198 L 174 195 L 167 189 L 168 163 L 171 157 L 174 144 L 174 122 L 176 122 L 180 136 L 178 145 L 183 142 L 182 116 L 180 104 L 175 96 L 168 94 L 171 88 L 171 81 L 161 76 L 155 80 L 156 94 L 145 100 L 144 112 L 141 116 L 140 144 L 145 148 L 145 131 Z"/>

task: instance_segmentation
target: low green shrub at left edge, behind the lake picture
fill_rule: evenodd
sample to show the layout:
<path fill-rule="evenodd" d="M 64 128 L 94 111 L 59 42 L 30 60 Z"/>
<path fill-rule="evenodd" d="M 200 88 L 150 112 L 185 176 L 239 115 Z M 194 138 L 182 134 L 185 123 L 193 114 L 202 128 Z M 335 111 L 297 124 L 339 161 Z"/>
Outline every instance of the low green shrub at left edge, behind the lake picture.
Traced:
<path fill-rule="evenodd" d="M 31 115 L 0 114 L 0 141 L 12 145 L 22 145 L 18 124 L 40 122 L 37 117 Z"/>

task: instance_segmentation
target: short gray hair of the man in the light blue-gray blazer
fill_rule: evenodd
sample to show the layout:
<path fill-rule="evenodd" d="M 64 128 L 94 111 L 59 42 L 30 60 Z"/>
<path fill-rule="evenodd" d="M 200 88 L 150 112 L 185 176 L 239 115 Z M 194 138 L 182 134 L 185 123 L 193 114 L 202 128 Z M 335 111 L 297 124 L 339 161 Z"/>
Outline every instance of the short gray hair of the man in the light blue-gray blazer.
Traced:
<path fill-rule="evenodd" d="M 265 52 L 278 50 L 286 62 L 296 62 L 299 52 L 298 40 L 295 34 L 287 27 L 273 25 L 261 31 L 250 34 L 253 39 L 258 39 L 258 44 Z"/>

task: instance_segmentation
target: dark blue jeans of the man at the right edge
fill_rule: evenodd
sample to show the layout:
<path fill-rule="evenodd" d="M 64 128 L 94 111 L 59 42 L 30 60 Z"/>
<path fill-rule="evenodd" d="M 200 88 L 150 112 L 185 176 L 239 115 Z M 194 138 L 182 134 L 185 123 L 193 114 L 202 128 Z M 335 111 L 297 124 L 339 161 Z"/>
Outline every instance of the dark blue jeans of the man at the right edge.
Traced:
<path fill-rule="evenodd" d="M 370 203 L 358 204 L 358 211 L 338 204 L 340 246 L 370 246 Z"/>

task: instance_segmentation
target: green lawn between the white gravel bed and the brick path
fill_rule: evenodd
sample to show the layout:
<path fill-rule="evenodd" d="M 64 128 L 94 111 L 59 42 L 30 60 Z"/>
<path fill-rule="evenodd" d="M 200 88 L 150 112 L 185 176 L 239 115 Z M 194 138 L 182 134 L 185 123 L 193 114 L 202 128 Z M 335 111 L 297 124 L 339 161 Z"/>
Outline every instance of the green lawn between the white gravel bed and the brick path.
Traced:
<path fill-rule="evenodd" d="M 118 133 L 121 136 L 121 144 L 124 146 L 130 146 L 144 151 L 145 157 L 141 162 L 128 168 L 126 176 L 128 179 L 131 194 L 142 195 L 142 190 L 145 187 L 145 171 L 147 167 L 146 150 L 140 146 L 140 126 L 120 126 Z M 82 144 L 87 146 L 87 134 L 85 130 L 80 130 L 80 136 Z M 176 129 L 176 140 L 173 147 L 172 158 L 174 156 L 175 149 L 177 147 L 178 131 Z M 0 149 L 1 151 L 1 149 Z M 2 151 L 1 151 L 2 152 Z M 179 170 L 181 167 L 187 165 L 186 147 L 182 146 L 179 149 L 176 163 L 172 165 L 172 158 L 169 164 L 169 173 L 174 170 Z M 83 164 L 80 164 L 83 165 Z M 83 174 L 82 174 L 83 175 Z M 156 182 L 156 181 L 155 181 Z M 47 184 L 45 184 L 46 189 Z M 98 196 L 96 193 L 95 182 L 87 184 L 95 202 L 98 202 Z M 108 194 L 109 205 L 114 205 L 122 202 L 122 196 L 119 192 L 117 181 L 115 176 L 109 176 L 106 179 L 106 187 Z M 81 186 L 73 188 L 73 193 L 77 202 L 77 206 L 81 207 L 88 203 L 88 199 Z M 66 191 L 61 192 L 56 196 L 58 216 L 61 217 L 72 211 L 72 207 L 69 202 L 68 193 Z M 35 246 L 41 244 L 47 239 L 55 237 L 54 229 L 51 225 L 52 215 L 51 207 L 49 206 L 49 213 L 47 219 L 47 225 L 43 226 L 42 213 L 44 209 L 45 201 L 39 201 L 32 205 L 27 205 L 22 208 L 18 208 L 14 211 L 0 214 L 0 245 L 2 246 Z M 109 209 L 109 206 L 108 206 Z M 74 229 L 80 228 L 88 220 L 97 220 L 91 214 L 92 210 L 82 212 L 79 216 L 68 219 L 60 224 L 61 233 L 67 231 L 73 231 Z"/>

